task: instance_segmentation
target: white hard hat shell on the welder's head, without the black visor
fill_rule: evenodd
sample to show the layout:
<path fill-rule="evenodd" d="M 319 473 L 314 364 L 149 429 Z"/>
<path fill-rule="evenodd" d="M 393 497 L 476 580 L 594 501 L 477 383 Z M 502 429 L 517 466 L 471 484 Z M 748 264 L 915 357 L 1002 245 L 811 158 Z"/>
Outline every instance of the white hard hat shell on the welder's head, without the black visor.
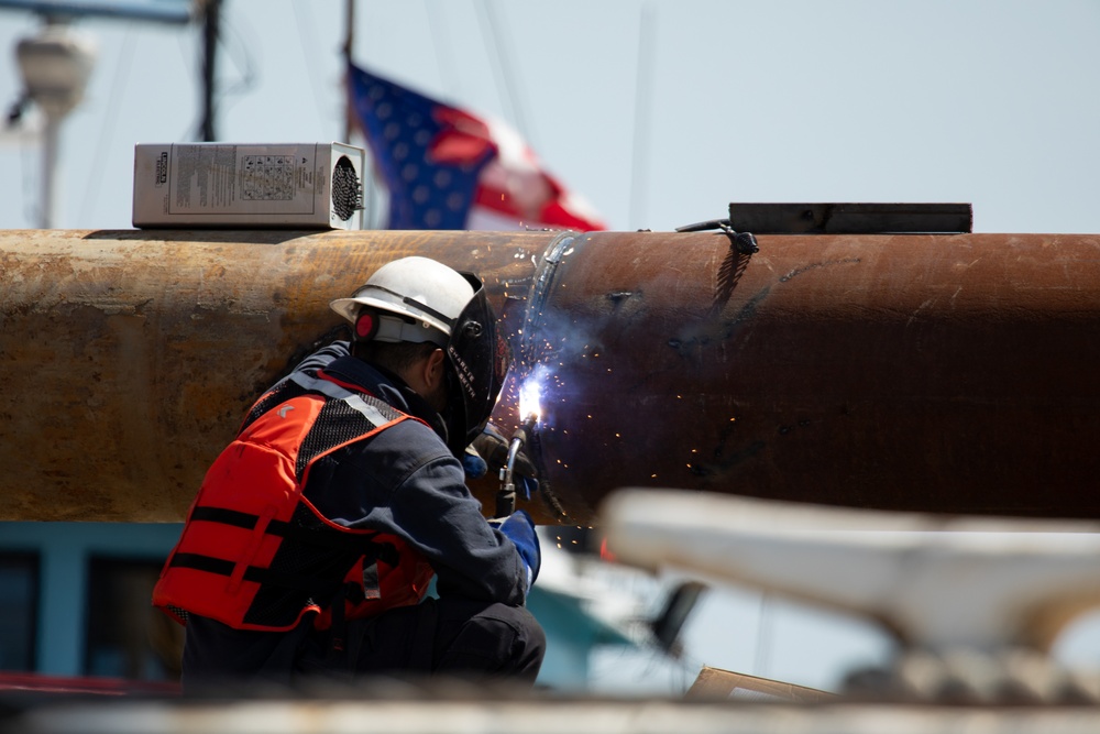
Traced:
<path fill-rule="evenodd" d="M 429 258 L 402 258 L 375 271 L 350 298 L 337 298 L 329 307 L 353 325 L 364 306 L 382 311 L 372 336 L 376 341 L 430 341 L 446 347 L 475 286 L 481 283 L 471 283 Z"/>

